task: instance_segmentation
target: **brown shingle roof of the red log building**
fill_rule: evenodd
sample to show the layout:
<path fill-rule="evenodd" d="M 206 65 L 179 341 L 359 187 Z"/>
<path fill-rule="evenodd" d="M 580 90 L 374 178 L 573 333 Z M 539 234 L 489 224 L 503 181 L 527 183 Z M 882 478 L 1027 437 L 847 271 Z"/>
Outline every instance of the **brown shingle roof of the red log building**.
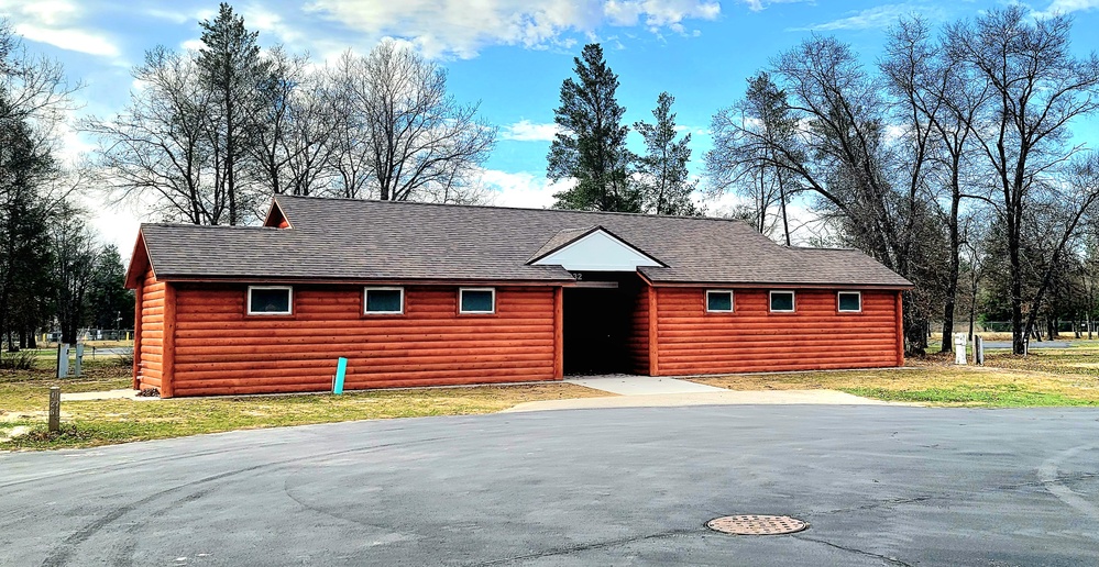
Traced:
<path fill-rule="evenodd" d="M 787 248 L 738 221 L 279 196 L 293 229 L 144 224 L 162 279 L 570 281 L 530 266 L 546 246 L 603 226 L 668 267 L 653 282 L 908 287 L 849 249 Z"/>

